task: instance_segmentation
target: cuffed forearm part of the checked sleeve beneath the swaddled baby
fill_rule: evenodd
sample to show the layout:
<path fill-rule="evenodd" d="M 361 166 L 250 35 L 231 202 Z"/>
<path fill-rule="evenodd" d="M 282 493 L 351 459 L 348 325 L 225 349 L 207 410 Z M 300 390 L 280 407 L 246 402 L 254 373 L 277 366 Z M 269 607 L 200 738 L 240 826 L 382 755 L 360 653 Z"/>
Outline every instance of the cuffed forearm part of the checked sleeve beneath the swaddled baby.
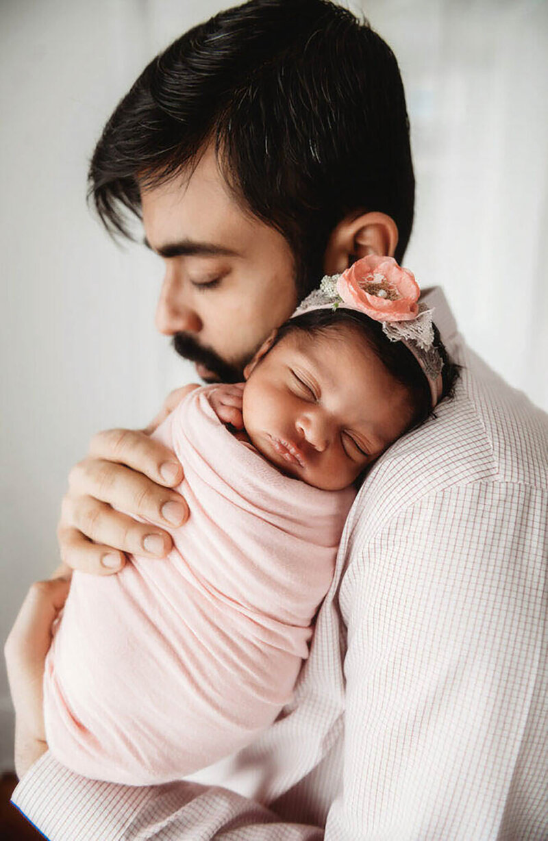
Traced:
<path fill-rule="evenodd" d="M 281 822 L 259 803 L 220 787 L 174 782 L 115 785 L 72 773 L 48 751 L 12 802 L 50 841 L 320 841 L 323 830 Z"/>

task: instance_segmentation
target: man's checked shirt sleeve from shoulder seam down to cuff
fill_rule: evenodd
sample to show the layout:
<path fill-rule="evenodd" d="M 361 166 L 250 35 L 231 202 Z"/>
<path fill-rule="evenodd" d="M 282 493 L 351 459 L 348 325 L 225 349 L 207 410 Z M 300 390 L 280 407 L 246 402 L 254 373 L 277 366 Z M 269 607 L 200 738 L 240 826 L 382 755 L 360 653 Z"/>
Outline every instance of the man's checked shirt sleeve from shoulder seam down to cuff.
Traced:
<path fill-rule="evenodd" d="M 51 754 L 15 804 L 51 841 L 545 838 L 545 506 L 523 484 L 472 484 L 376 533 L 358 520 L 339 590 L 343 785 L 325 833 L 221 788 L 84 780 Z"/>

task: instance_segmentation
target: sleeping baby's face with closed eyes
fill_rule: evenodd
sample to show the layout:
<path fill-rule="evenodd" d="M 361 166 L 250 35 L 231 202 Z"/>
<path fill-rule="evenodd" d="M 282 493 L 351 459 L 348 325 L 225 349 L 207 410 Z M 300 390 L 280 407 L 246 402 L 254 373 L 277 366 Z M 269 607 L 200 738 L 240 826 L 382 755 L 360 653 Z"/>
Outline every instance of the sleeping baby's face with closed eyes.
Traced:
<path fill-rule="evenodd" d="M 243 421 L 284 473 L 325 490 L 348 487 L 412 420 L 407 389 L 353 328 L 285 336 L 250 373 Z"/>

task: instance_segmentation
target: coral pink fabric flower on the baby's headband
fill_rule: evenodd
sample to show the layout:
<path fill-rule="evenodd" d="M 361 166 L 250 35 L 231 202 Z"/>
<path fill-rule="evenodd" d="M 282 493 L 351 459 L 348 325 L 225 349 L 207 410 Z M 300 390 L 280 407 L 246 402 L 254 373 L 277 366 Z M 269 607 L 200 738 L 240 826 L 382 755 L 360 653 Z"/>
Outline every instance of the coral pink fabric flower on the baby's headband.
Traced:
<path fill-rule="evenodd" d="M 418 314 L 418 283 L 393 257 L 362 257 L 338 278 L 337 291 L 375 321 L 409 321 Z"/>

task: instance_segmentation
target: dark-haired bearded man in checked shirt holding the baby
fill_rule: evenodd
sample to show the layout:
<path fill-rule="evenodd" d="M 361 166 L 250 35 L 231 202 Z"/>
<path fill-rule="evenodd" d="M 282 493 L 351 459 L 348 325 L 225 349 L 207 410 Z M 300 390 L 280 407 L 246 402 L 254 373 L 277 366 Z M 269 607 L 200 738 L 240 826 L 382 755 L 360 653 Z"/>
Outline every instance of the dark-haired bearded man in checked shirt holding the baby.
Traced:
<path fill-rule="evenodd" d="M 105 224 L 124 231 L 122 209 L 140 214 L 166 264 L 158 328 L 204 378 L 237 379 L 322 273 L 367 253 L 401 259 L 414 182 L 396 61 L 330 3 L 231 9 L 146 68 L 90 178 Z M 294 701 L 215 771 L 254 800 L 90 783 L 43 753 L 40 726 L 25 758 L 25 705 L 67 582 L 31 591 L 8 641 L 21 772 L 38 759 L 16 802 L 50 838 L 548 832 L 545 416 L 466 348 L 439 290 L 425 297 L 460 385 L 371 470 Z M 162 558 L 162 523 L 186 516 L 181 479 L 146 433 L 97 436 L 64 501 L 64 562 L 112 574 L 124 552 Z"/>

